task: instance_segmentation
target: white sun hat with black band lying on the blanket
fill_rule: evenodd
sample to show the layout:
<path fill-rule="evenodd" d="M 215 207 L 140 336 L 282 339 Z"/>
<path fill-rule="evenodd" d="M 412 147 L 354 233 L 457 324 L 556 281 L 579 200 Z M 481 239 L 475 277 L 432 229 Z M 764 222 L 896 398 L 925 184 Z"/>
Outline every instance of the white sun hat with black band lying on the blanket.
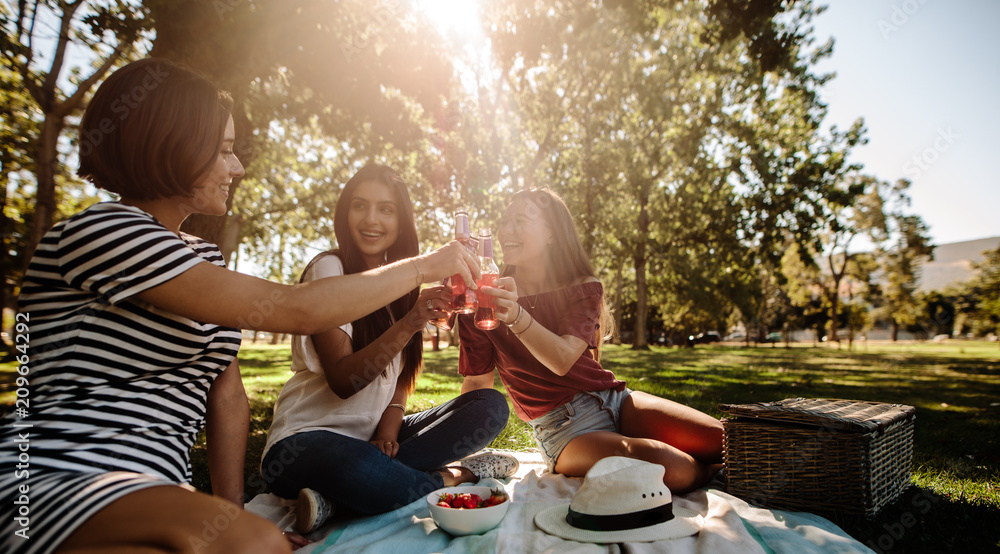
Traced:
<path fill-rule="evenodd" d="M 611 456 L 594 464 L 569 504 L 535 515 L 550 535 L 579 542 L 653 542 L 698 533 L 702 517 L 676 507 L 663 466 Z"/>

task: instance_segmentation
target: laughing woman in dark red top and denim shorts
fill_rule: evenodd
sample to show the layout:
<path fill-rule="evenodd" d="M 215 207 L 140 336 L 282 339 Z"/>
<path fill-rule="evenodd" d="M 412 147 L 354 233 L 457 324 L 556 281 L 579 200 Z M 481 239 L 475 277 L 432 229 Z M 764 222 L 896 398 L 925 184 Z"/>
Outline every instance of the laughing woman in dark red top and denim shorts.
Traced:
<path fill-rule="evenodd" d="M 721 422 L 631 391 L 598 361 L 610 326 L 604 289 L 562 199 L 518 192 L 498 236 L 504 267 L 483 291 L 506 325 L 483 331 L 459 317 L 462 392 L 492 387 L 496 369 L 551 471 L 582 477 L 602 458 L 626 456 L 663 465 L 675 492 L 711 480 L 722 468 Z"/>

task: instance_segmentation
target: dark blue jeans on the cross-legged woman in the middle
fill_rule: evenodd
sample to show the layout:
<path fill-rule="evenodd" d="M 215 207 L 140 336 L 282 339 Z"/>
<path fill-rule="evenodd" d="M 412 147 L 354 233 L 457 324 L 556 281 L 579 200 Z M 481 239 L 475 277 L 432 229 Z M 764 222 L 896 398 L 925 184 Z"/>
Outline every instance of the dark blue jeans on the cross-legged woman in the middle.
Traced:
<path fill-rule="evenodd" d="M 395 458 L 366 440 L 331 431 L 297 433 L 268 450 L 261 476 L 283 498 L 310 488 L 338 510 L 380 514 L 443 487 L 437 470 L 488 446 L 509 415 L 499 392 L 467 392 L 404 417 Z"/>

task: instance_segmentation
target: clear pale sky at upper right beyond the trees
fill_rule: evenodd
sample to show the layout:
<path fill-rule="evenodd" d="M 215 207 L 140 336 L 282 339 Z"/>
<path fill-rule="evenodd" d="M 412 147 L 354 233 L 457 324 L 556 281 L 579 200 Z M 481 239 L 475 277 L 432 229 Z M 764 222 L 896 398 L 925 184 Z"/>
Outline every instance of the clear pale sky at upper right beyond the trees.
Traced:
<path fill-rule="evenodd" d="M 868 144 L 854 161 L 885 181 L 912 181 L 909 213 L 934 244 L 1000 237 L 1000 1 L 819 0 L 813 21 L 836 77 L 827 125 L 858 117 Z"/>

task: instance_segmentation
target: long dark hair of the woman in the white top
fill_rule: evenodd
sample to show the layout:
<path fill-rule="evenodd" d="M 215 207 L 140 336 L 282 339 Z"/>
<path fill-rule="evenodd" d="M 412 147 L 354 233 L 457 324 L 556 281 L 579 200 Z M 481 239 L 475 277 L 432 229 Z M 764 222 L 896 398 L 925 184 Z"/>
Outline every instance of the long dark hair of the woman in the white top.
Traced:
<path fill-rule="evenodd" d="M 344 185 L 344 190 L 340 193 L 340 198 L 337 200 L 337 208 L 333 216 L 333 231 L 337 236 L 338 248 L 320 254 L 313 262 L 322 256 L 333 254 L 339 257 L 340 261 L 344 264 L 345 274 L 360 273 L 368 269 L 364 257 L 361 255 L 361 250 L 351 236 L 351 230 L 347 224 L 347 212 L 350 209 L 354 191 L 362 183 L 370 181 L 375 181 L 388 187 L 396 196 L 396 205 L 398 206 L 396 213 L 399 217 L 399 236 L 396 238 L 396 242 L 386 251 L 386 263 L 412 258 L 419 253 L 417 246 L 417 226 L 413 218 L 413 202 L 410 200 L 410 193 L 406 188 L 406 183 L 392 168 L 384 165 L 369 164 L 361 168 L 361 170 L 347 181 L 347 184 Z M 310 262 L 309 265 L 311 266 L 313 262 Z M 302 274 L 305 275 L 308 270 L 309 266 L 306 266 Z M 413 289 L 390 303 L 387 306 L 388 312 L 386 310 L 375 310 L 360 319 L 356 319 L 353 322 L 354 336 L 352 338 L 355 352 L 368 346 L 375 339 L 382 336 L 383 333 L 389 330 L 394 321 L 399 321 L 406 317 L 406 314 L 416 303 L 419 294 L 419 289 Z M 392 313 L 391 317 L 389 312 Z M 408 384 L 408 390 L 412 392 L 416 386 L 417 375 L 423 366 L 423 336 L 421 333 L 417 333 L 410 338 L 406 346 L 403 347 L 402 354 L 403 368 L 400 378 Z"/>

